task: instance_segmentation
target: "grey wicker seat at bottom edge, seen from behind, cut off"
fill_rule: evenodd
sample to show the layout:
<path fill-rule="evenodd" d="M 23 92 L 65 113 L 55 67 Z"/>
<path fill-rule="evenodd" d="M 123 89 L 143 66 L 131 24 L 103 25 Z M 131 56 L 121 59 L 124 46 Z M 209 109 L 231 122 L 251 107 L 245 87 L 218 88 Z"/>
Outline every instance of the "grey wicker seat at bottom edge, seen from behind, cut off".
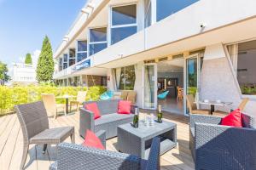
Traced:
<path fill-rule="evenodd" d="M 160 170 L 160 139 L 154 138 L 148 160 L 109 150 L 98 150 L 79 144 L 62 143 L 58 159 L 49 170 Z"/>

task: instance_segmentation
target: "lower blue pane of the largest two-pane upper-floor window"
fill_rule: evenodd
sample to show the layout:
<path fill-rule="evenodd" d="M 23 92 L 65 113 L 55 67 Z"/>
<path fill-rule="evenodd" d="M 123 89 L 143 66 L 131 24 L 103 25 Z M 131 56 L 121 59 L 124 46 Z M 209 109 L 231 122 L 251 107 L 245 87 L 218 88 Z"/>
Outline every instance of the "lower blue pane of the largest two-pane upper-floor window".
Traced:
<path fill-rule="evenodd" d="M 137 32 L 137 26 L 119 27 L 111 29 L 111 44 L 130 37 Z"/>

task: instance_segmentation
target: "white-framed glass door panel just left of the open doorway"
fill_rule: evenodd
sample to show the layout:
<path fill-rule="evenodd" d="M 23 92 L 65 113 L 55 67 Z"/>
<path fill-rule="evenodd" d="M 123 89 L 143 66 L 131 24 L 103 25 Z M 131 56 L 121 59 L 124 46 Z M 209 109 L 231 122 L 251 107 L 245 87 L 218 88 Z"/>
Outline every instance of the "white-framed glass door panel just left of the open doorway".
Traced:
<path fill-rule="evenodd" d="M 156 64 L 143 66 L 143 108 L 155 110 L 157 107 Z"/>

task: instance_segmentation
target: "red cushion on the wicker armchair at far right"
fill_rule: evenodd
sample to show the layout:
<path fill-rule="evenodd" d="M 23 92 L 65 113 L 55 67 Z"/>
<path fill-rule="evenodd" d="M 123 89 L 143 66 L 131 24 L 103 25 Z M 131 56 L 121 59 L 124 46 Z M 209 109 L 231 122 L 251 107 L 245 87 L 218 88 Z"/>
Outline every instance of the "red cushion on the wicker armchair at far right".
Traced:
<path fill-rule="evenodd" d="M 222 118 L 221 125 L 242 127 L 240 109 L 236 109 L 235 111 L 232 111 L 228 116 Z"/>

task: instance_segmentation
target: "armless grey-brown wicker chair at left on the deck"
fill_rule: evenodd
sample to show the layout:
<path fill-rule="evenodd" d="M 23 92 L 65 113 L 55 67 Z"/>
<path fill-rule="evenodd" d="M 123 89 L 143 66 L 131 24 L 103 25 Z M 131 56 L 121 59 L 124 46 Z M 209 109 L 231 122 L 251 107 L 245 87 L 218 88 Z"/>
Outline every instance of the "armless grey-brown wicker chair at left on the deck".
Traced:
<path fill-rule="evenodd" d="M 23 155 L 20 169 L 23 169 L 26 163 L 29 144 L 44 144 L 44 153 L 47 144 L 60 144 L 67 137 L 71 137 L 74 143 L 74 127 L 49 128 L 48 116 L 43 101 L 15 105 L 15 111 L 23 133 Z"/>

